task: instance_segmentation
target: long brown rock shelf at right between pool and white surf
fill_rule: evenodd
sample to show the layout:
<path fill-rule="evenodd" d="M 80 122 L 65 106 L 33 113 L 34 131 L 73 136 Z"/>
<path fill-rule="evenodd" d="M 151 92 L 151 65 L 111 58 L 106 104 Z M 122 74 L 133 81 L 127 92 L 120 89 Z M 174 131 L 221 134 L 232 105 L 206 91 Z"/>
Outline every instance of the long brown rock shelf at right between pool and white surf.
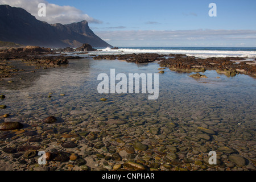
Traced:
<path fill-rule="evenodd" d="M 93 59 L 118 59 L 136 64 L 159 61 L 160 67 L 166 67 L 177 72 L 205 72 L 207 70 L 216 70 L 217 73 L 224 73 L 229 77 L 236 76 L 239 73 L 256 76 L 255 60 L 242 61 L 246 59 L 245 57 L 210 57 L 201 59 L 182 54 L 159 55 L 157 53 L 133 53 L 127 55 L 99 55 L 93 57 Z M 234 61 L 240 61 L 240 63 L 237 64 Z"/>

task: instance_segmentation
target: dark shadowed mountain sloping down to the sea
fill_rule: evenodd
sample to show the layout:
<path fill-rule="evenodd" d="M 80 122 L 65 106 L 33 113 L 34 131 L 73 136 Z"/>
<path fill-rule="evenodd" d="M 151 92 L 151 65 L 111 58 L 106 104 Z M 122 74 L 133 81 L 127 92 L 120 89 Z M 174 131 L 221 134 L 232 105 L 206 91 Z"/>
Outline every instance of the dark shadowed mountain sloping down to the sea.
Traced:
<path fill-rule="evenodd" d="M 0 5 L 0 40 L 52 48 L 80 47 L 84 43 L 93 47 L 112 47 L 90 30 L 86 20 L 48 24 L 22 8 L 9 5 Z"/>

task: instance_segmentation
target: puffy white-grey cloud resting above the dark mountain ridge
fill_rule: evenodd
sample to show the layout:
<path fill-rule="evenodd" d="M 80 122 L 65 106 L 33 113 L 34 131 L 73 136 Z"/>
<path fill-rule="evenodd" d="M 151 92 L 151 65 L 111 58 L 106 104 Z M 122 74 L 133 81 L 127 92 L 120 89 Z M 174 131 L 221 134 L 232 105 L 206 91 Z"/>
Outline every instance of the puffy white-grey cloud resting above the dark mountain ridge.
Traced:
<path fill-rule="evenodd" d="M 46 4 L 46 17 L 38 16 L 39 3 Z M 21 7 L 34 15 L 36 19 L 47 23 L 69 24 L 87 20 L 89 23 L 102 23 L 100 20 L 94 19 L 81 10 L 72 6 L 59 6 L 48 3 L 46 0 L 0 0 L 0 5 L 10 5 L 13 7 Z"/>

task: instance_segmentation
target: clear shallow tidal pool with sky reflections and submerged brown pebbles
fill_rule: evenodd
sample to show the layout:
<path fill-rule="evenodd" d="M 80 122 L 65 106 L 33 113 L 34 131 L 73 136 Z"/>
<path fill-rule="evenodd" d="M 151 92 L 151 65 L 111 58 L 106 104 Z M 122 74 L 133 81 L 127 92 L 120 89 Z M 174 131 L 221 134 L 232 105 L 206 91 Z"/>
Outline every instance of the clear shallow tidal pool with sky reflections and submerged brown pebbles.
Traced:
<path fill-rule="evenodd" d="M 65 147 L 60 146 L 61 142 L 76 140 L 79 150 L 69 150 L 74 150 L 85 160 L 92 158 L 94 162 L 87 164 L 92 169 L 105 167 L 104 159 L 97 156 L 98 153 L 111 156 L 109 151 L 115 150 L 121 160 L 112 156 L 108 162 L 111 169 L 117 163 L 136 159 L 149 168 L 159 170 L 254 170 L 255 78 L 247 75 L 227 77 L 216 71 L 206 71 L 201 74 L 208 78 L 195 79 L 189 77 L 192 73 L 179 73 L 166 68 L 163 74 L 159 74 L 157 100 L 148 100 L 148 94 L 142 93 L 100 94 L 97 91 L 101 82 L 97 76 L 100 73 L 109 75 L 110 69 L 115 69 L 116 74 L 128 75 L 158 73 L 158 68 L 157 62 L 134 64 L 119 60 L 79 59 L 69 60 L 67 67 L 16 75 L 12 83 L 3 80 L 0 82 L 0 94 L 6 98 L 0 100 L 0 105 L 7 108 L 1 109 L 0 115 L 9 113 L 10 117 L 0 118 L 0 121 L 20 121 L 25 127 L 22 134 L 8 131 L 14 135 L 0 138 L 0 146 L 31 144 L 28 141 L 31 136 L 27 136 L 26 132 L 35 131 L 42 141 L 32 144 L 46 151 L 52 148 L 65 151 Z M 23 79 L 20 80 L 20 77 Z M 101 98 L 108 100 L 101 101 Z M 59 118 L 61 122 L 52 125 L 43 123 L 42 119 L 49 115 Z M 125 123 L 113 122 L 117 120 Z M 70 130 L 65 133 L 75 133 L 76 138 L 61 135 L 61 129 L 67 128 Z M 85 131 L 87 133 L 82 135 Z M 88 139 L 88 134 L 95 134 L 94 139 Z M 6 141 L 11 144 L 6 144 Z M 103 146 L 91 147 L 88 142 L 103 142 Z M 134 147 L 135 152 L 127 152 L 123 148 L 133 146 L 134 142 L 142 143 L 148 149 Z M 172 147 L 176 149 L 172 151 Z M 205 162 L 211 150 L 217 151 L 220 160 L 217 166 Z M 133 154 L 134 158 L 129 154 Z M 238 159 L 236 155 L 239 155 Z M 187 162 L 188 158 L 190 162 Z M 239 158 L 243 158 L 242 162 Z M 197 160 L 204 164 L 197 165 Z M 11 165 L 13 169 L 22 166 L 15 162 Z M 22 167 L 29 168 L 26 164 Z M 61 168 L 68 169 L 57 169 Z"/>

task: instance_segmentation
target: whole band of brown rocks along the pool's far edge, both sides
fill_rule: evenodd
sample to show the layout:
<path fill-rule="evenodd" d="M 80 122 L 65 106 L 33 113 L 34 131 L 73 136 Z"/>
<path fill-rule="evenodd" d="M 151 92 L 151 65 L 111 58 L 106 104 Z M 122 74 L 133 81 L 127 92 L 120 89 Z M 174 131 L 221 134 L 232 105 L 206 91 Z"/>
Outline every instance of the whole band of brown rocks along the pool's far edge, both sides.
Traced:
<path fill-rule="evenodd" d="M 68 64 L 68 59 L 81 59 L 79 56 L 59 55 L 60 52 L 77 51 L 97 51 L 89 44 L 83 44 L 81 47 L 64 48 L 51 50 L 50 48 L 27 46 L 24 48 L 10 48 L 0 50 L 0 77 L 9 77 L 15 75 L 19 70 L 7 64 L 7 60 L 20 59 L 28 65 L 50 68 L 56 65 Z M 86 54 L 88 52 L 82 53 Z M 58 54 L 58 55 L 56 55 Z M 79 53 L 76 53 L 79 54 Z M 48 55 L 48 56 L 46 56 Z M 177 72 L 205 72 L 215 70 L 217 73 L 223 73 L 228 77 L 237 74 L 256 76 L 256 59 L 246 61 L 245 57 L 210 57 L 202 59 L 195 56 L 186 56 L 183 54 L 159 55 L 158 53 L 132 53 L 122 55 L 92 55 L 94 60 L 125 60 L 128 63 L 152 63 L 159 61 L 162 68 L 169 68 Z"/>

